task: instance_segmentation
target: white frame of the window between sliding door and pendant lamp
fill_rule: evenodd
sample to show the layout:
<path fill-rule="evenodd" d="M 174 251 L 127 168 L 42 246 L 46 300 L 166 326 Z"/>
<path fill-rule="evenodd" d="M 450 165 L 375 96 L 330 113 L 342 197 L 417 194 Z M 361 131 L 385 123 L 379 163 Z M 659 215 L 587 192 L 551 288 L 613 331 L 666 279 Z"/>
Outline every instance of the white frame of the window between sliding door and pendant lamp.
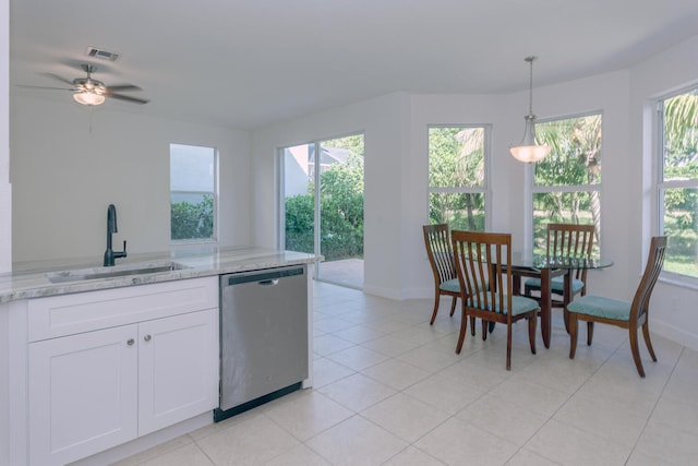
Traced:
<path fill-rule="evenodd" d="M 482 129 L 482 157 L 484 176 L 482 187 L 432 187 L 430 172 L 430 138 L 432 128 L 459 128 L 459 129 Z M 429 123 L 426 124 L 426 219 L 431 222 L 431 195 L 432 194 L 482 194 L 484 196 L 484 230 L 492 229 L 492 124 L 490 123 Z M 450 226 L 450 225 L 449 225 Z"/>

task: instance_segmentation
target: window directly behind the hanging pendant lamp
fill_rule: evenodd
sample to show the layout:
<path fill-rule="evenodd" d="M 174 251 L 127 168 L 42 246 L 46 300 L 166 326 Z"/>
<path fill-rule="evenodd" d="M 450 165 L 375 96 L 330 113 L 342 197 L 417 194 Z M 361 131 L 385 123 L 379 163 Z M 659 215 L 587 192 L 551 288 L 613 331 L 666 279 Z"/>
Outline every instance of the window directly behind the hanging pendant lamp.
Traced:
<path fill-rule="evenodd" d="M 594 225 L 601 232 L 601 115 L 535 124 L 540 143 L 551 146 L 533 174 L 533 252 L 544 253 L 549 223 Z"/>

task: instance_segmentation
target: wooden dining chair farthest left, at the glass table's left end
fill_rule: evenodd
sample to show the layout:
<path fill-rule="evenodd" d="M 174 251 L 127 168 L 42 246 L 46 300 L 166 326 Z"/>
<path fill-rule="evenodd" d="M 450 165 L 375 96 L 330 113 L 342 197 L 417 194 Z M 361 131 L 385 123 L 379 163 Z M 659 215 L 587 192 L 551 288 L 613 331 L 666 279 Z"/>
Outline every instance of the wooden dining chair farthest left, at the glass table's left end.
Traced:
<path fill-rule="evenodd" d="M 424 247 L 434 275 L 434 312 L 429 322 L 434 324 L 438 313 L 441 296 L 450 296 L 450 315 L 456 310 L 456 301 L 460 297 L 460 285 L 454 266 L 454 253 L 450 243 L 448 224 L 424 225 Z"/>

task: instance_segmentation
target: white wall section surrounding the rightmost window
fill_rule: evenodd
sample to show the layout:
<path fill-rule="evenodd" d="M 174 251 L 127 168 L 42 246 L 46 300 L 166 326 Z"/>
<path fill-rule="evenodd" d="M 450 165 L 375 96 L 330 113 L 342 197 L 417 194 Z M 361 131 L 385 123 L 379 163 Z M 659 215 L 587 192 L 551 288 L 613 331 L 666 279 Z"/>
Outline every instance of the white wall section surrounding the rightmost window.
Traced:
<path fill-rule="evenodd" d="M 642 178 L 642 167 L 651 166 L 652 140 L 642 139 L 643 121 L 653 116 L 650 103 L 660 94 L 677 91 L 687 85 L 698 84 L 698 36 L 659 53 L 630 70 L 630 145 L 628 153 L 633 164 L 628 167 L 628 179 L 633 180 L 634 202 L 628 205 L 628 215 L 636 230 L 629 236 L 628 249 L 631 251 L 630 271 L 634 278 L 641 273 L 647 258 L 647 242 L 640 243 L 640 231 L 647 238 L 657 234 L 654 222 L 651 177 Z M 643 111 L 643 109 L 646 111 Z M 650 111 L 647 111 L 647 110 Z M 651 126 L 650 126 L 651 128 Z M 642 202 L 640 202 L 642 201 Z M 645 222 L 640 222 L 643 218 Z M 640 251 L 642 251 L 640 253 Z M 696 302 L 698 289 L 678 286 L 660 279 L 652 295 L 650 323 L 651 328 L 688 347 L 698 349 L 698 313 Z"/>

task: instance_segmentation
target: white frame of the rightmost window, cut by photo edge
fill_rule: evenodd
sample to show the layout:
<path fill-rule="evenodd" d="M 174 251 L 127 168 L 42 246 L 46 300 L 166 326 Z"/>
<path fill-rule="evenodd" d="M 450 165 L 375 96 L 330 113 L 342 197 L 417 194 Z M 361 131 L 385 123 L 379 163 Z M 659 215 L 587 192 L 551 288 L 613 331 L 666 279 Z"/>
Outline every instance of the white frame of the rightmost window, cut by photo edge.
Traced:
<path fill-rule="evenodd" d="M 696 189 L 698 190 L 698 178 L 688 180 L 664 180 L 664 101 L 682 94 L 698 89 L 698 83 L 682 86 L 672 92 L 662 93 L 652 99 L 654 109 L 654 144 L 652 146 L 652 231 L 657 235 L 664 235 L 664 202 L 663 193 L 670 189 Z M 671 239 L 670 239 L 671 240 Z M 648 239 L 649 241 L 649 239 Z M 679 286 L 688 286 L 698 289 L 698 276 L 684 275 L 662 268 L 660 279 Z"/>

